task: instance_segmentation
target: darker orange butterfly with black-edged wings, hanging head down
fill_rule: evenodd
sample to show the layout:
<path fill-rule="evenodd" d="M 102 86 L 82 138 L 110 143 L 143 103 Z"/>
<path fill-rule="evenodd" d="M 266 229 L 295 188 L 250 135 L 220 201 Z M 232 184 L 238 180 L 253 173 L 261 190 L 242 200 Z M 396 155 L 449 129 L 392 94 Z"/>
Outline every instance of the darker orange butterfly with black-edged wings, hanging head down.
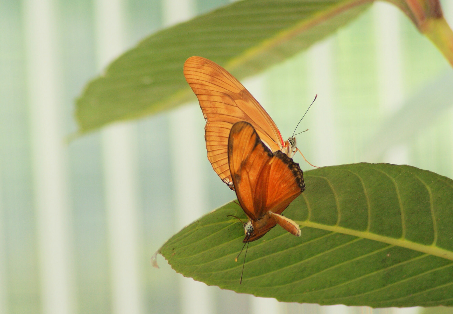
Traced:
<path fill-rule="evenodd" d="M 273 214 L 281 214 L 305 190 L 299 165 L 279 150 L 271 152 L 247 122 L 231 128 L 228 162 L 237 199 L 254 228 L 244 242 L 261 238 L 275 224 L 297 233 L 292 220 Z"/>

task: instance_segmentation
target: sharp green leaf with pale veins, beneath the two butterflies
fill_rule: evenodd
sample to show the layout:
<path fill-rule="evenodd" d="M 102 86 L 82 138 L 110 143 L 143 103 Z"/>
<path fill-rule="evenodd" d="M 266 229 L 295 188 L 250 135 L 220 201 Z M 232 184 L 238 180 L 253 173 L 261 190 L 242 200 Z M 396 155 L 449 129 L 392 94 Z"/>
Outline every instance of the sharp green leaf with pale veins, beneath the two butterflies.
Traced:
<path fill-rule="evenodd" d="M 453 305 L 453 181 L 410 166 L 359 163 L 306 171 L 307 190 L 280 226 L 252 242 L 244 278 L 234 259 L 246 218 L 234 202 L 203 216 L 159 252 L 208 285 L 286 302 Z"/>

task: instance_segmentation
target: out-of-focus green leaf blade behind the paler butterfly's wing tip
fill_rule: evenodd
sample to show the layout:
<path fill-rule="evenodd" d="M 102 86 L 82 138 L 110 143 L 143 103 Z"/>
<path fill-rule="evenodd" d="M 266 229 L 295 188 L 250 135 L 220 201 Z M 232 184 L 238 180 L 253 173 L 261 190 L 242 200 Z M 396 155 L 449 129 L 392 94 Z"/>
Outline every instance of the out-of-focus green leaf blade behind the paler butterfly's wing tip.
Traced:
<path fill-rule="evenodd" d="M 207 57 L 242 79 L 308 48 L 371 2 L 243 0 L 159 31 L 87 85 L 77 100 L 79 131 L 195 100 L 183 77 L 188 57 Z"/>

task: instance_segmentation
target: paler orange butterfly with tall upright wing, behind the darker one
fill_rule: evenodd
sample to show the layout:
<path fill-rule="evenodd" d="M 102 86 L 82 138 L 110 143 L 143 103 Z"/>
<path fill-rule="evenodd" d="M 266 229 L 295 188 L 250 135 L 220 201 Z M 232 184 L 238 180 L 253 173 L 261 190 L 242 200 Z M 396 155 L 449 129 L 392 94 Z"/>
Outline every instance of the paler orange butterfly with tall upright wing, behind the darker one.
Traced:
<path fill-rule="evenodd" d="M 272 152 L 280 150 L 292 157 L 297 151 L 295 138 L 284 141 L 265 109 L 223 67 L 203 57 L 190 57 L 184 63 L 184 76 L 197 95 L 206 120 L 207 159 L 231 190 L 234 190 L 234 184 L 227 147 L 228 135 L 236 122 L 249 122 Z"/>

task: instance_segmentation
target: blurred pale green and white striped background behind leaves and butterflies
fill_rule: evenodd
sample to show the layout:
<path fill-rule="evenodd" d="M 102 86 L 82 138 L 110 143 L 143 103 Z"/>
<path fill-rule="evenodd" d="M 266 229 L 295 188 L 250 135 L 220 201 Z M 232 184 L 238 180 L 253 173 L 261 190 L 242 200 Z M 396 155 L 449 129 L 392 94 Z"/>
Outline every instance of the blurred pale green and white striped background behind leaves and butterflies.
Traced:
<path fill-rule="evenodd" d="M 197 103 L 65 141 L 75 98 L 110 61 L 227 3 L 0 1 L 0 314 L 427 313 L 280 304 L 194 282 L 160 256 L 153 268 L 173 233 L 235 198 L 207 161 Z M 442 4 L 452 25 L 453 3 Z M 297 137 L 314 165 L 391 162 L 453 178 L 453 70 L 392 5 L 243 83 L 284 138 L 318 94 Z"/>

